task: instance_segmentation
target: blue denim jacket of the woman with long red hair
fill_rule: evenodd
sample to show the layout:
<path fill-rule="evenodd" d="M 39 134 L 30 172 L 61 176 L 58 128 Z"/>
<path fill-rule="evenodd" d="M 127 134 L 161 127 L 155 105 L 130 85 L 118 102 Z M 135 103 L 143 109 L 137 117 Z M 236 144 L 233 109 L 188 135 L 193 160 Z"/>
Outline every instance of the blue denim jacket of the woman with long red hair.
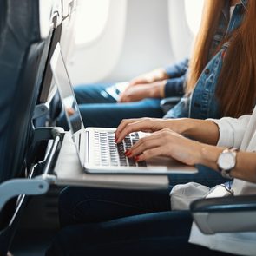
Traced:
<path fill-rule="evenodd" d="M 235 6 L 233 16 L 228 23 L 229 4 L 228 1 L 226 1 L 227 4 L 220 16 L 219 26 L 216 30 L 216 34 L 213 36 L 208 58 L 218 47 L 223 38 L 240 26 L 246 8 L 246 2 L 246 0 L 241 0 L 241 3 Z M 228 42 L 224 43 L 217 54 L 209 60 L 195 85 L 193 93 L 189 96 L 184 95 L 181 101 L 174 106 L 174 108 L 171 108 L 164 118 L 190 117 L 206 119 L 221 117 L 219 102 L 215 97 L 215 89 L 228 44 Z"/>

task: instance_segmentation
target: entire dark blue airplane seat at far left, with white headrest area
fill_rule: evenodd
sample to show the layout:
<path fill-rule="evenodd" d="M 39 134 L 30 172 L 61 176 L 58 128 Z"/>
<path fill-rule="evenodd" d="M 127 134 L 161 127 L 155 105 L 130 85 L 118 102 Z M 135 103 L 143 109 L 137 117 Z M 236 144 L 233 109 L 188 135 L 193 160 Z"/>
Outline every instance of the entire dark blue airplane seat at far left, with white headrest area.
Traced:
<path fill-rule="evenodd" d="M 32 161 L 37 158 L 31 150 L 36 135 L 33 116 L 49 56 L 51 28 L 58 23 L 54 2 L 0 0 L 0 255 L 6 255 L 10 247 L 26 202 L 18 192 L 30 189 L 28 179 L 20 180 L 33 176 Z M 36 188 L 43 190 L 44 186 L 37 182 Z"/>

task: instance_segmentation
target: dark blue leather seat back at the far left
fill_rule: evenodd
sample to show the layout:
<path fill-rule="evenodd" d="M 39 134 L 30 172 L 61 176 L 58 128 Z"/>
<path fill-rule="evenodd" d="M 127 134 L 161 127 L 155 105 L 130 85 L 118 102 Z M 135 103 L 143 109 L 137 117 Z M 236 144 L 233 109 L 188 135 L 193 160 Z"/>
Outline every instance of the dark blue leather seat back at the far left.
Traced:
<path fill-rule="evenodd" d="M 20 174 L 33 135 L 31 118 L 49 50 L 35 0 L 2 0 L 0 31 L 0 182 Z"/>

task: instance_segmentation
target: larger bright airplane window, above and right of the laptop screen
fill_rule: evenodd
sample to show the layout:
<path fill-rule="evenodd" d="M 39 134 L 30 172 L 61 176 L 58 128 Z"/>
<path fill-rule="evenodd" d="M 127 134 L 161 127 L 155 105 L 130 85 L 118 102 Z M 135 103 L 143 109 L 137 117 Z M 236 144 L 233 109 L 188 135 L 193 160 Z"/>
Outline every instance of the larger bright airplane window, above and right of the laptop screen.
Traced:
<path fill-rule="evenodd" d="M 102 34 L 108 20 L 109 0 L 82 0 L 77 4 L 75 43 L 89 43 Z"/>

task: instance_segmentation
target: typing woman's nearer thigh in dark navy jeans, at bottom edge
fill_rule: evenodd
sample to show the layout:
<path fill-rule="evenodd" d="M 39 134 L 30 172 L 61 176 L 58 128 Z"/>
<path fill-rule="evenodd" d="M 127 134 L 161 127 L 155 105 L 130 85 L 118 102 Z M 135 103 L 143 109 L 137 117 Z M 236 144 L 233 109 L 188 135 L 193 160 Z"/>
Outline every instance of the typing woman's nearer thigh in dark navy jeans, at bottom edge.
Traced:
<path fill-rule="evenodd" d="M 46 255 L 231 255 L 188 243 L 191 225 L 188 211 L 167 211 L 67 226 Z"/>

